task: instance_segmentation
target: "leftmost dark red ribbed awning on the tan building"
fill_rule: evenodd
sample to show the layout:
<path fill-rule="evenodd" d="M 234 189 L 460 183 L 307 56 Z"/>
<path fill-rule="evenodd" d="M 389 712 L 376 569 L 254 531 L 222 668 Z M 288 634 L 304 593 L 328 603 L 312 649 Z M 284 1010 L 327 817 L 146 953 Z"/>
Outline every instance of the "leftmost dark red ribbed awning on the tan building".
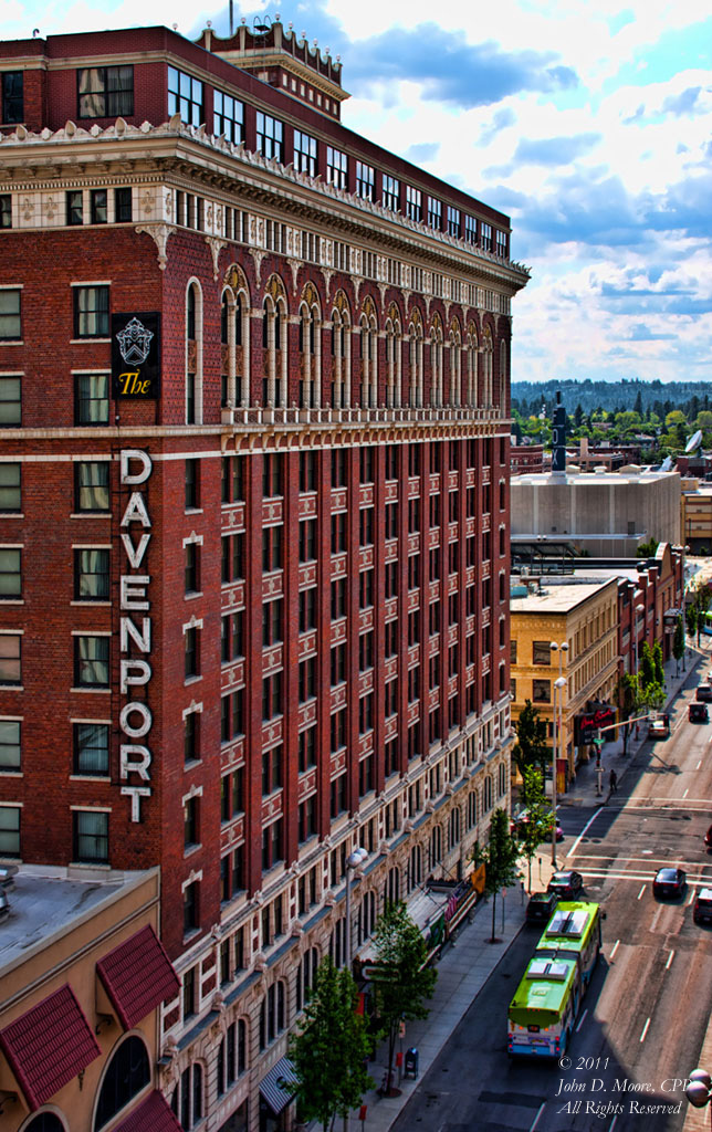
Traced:
<path fill-rule="evenodd" d="M 0 1030 L 0 1048 L 31 1112 L 101 1053 L 69 984 Z"/>

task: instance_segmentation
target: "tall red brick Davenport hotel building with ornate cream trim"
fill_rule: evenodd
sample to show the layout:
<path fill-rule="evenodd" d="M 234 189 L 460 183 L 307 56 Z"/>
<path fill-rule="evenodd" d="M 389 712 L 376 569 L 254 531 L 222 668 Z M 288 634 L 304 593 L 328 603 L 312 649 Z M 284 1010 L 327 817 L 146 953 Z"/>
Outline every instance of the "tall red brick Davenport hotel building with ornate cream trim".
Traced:
<path fill-rule="evenodd" d="M 355 953 L 508 795 L 527 275 L 281 24 L 0 71 L 0 856 L 160 865 L 165 1096 L 286 1126 L 350 852 Z"/>

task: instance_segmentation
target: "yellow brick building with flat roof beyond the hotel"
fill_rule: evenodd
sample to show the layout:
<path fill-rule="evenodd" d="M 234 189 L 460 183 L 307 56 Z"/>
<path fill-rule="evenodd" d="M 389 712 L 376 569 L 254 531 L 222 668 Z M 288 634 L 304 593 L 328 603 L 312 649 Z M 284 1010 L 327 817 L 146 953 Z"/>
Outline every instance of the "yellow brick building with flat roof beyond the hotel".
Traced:
<path fill-rule="evenodd" d="M 518 588 L 524 590 L 524 586 Z M 554 732 L 555 681 L 564 687 L 563 728 L 558 737 L 559 790 L 574 777 L 576 762 L 587 758 L 587 746 L 575 746 L 575 718 L 592 701 L 612 704 L 618 672 L 618 582 L 530 583 L 515 590 L 512 614 L 512 721 L 531 700 Z M 552 650 L 566 643 L 568 650 Z"/>

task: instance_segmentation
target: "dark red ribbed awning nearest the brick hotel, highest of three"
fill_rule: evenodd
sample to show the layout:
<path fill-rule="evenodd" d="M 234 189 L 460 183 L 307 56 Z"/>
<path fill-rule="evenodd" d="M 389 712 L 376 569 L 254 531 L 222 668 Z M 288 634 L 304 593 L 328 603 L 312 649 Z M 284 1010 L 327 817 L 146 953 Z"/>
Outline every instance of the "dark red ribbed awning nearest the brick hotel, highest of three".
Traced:
<path fill-rule="evenodd" d="M 125 1030 L 180 989 L 171 960 L 149 924 L 100 959 L 96 970 Z"/>

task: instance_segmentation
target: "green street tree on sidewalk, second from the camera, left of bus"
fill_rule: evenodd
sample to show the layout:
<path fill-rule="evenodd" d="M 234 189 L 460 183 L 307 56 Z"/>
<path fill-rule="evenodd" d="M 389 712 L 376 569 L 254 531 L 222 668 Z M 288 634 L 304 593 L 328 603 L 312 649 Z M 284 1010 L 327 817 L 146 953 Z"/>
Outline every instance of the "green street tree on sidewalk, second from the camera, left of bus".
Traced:
<path fill-rule="evenodd" d="M 388 901 L 374 928 L 374 978 L 376 1013 L 388 1039 L 386 1091 L 391 1091 L 393 1054 L 402 1021 L 427 1018 L 437 971 L 426 967 L 427 947 L 420 929 L 402 900 Z"/>

